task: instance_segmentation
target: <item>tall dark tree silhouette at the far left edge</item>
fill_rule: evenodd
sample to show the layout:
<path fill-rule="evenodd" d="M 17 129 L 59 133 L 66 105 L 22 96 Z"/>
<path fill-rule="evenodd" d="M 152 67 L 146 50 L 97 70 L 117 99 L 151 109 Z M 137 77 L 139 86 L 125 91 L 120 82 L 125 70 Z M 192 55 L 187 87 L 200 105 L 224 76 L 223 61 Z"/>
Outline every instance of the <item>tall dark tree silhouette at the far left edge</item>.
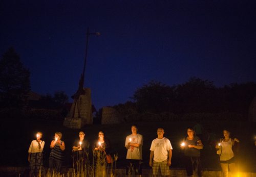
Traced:
<path fill-rule="evenodd" d="M 11 47 L 0 60 L 1 108 L 23 108 L 29 91 L 30 72 Z"/>

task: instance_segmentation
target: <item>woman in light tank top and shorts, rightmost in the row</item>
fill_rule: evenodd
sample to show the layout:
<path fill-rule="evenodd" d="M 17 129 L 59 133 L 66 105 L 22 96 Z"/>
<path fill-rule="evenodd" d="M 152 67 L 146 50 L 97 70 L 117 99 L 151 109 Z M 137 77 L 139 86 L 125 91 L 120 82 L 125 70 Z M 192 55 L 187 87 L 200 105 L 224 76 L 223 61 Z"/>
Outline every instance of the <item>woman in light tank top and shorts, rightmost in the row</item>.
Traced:
<path fill-rule="evenodd" d="M 223 136 L 224 138 L 222 138 L 220 143 L 217 144 L 215 147 L 217 149 L 221 148 L 220 164 L 222 169 L 222 176 L 226 177 L 228 175 L 228 167 L 231 172 L 236 170 L 232 146 L 234 145 L 235 142 L 239 143 L 239 140 L 237 138 L 231 139 L 229 137 L 230 132 L 226 129 L 223 130 Z"/>

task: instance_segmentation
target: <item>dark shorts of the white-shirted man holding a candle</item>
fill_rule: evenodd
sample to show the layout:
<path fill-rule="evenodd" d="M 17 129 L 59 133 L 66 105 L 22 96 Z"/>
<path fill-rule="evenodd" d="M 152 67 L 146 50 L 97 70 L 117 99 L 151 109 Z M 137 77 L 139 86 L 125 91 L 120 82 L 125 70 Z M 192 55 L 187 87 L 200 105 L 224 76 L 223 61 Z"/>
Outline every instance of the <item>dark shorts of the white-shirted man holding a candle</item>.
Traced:
<path fill-rule="evenodd" d="M 126 159 L 128 164 L 126 165 L 125 174 L 142 174 L 142 160 Z"/>

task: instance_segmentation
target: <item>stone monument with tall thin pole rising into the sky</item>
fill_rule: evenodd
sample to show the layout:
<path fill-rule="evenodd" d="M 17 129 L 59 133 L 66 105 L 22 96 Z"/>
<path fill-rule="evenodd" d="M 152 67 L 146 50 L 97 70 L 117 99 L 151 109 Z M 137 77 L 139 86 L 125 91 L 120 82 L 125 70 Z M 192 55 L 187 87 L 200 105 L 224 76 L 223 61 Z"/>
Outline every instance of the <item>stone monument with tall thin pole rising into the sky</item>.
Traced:
<path fill-rule="evenodd" d="M 84 58 L 83 71 L 79 80 L 79 87 L 76 93 L 72 96 L 74 103 L 72 104 L 68 117 L 66 117 L 63 122 L 65 127 L 72 129 L 81 129 L 84 125 L 93 123 L 91 89 L 83 88 L 84 73 L 86 70 L 88 38 L 91 34 L 97 36 L 100 35 L 100 33 L 90 33 L 89 28 L 87 29 L 86 57 Z"/>

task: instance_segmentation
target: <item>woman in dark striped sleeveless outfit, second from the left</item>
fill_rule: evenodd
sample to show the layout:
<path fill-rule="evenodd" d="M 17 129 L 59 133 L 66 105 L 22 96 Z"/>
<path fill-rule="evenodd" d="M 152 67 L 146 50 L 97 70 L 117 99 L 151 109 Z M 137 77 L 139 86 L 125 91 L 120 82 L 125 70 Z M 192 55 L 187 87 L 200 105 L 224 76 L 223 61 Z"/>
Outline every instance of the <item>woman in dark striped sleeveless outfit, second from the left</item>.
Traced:
<path fill-rule="evenodd" d="M 54 140 L 51 142 L 51 153 L 49 158 L 49 167 L 55 169 L 56 172 L 60 172 L 62 162 L 64 160 L 63 151 L 65 150 L 65 143 L 61 140 L 62 133 L 56 132 Z"/>

